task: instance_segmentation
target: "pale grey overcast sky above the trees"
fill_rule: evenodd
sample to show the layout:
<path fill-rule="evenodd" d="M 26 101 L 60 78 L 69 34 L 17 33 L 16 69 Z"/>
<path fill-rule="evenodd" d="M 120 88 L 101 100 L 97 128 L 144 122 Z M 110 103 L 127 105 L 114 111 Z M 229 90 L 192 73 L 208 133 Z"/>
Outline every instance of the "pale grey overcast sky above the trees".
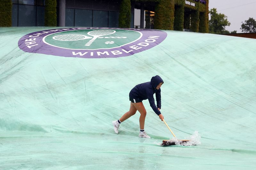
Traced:
<path fill-rule="evenodd" d="M 226 30 L 242 33 L 242 23 L 249 17 L 256 20 L 256 0 L 209 0 L 209 10 L 216 8 L 218 13 L 228 17 L 230 26 Z M 209 18 L 210 19 L 210 18 Z"/>

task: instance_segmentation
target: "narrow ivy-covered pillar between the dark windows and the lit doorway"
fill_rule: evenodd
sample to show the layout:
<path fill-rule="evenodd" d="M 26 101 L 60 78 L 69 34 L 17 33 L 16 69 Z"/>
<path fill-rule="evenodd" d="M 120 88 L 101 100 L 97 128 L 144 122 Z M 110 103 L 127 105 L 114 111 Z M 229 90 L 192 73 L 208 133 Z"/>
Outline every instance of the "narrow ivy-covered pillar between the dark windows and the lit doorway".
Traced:
<path fill-rule="evenodd" d="M 119 11 L 119 28 L 130 28 L 131 24 L 131 1 L 122 0 Z"/>

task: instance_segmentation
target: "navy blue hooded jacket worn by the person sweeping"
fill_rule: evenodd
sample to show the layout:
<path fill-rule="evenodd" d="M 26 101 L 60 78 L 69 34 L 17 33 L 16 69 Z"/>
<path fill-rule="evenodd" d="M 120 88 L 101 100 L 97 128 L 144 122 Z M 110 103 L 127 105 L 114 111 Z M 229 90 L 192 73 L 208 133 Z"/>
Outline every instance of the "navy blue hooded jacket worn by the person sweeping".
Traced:
<path fill-rule="evenodd" d="M 148 102 L 154 112 L 157 115 L 160 115 L 161 112 L 157 108 L 161 109 L 161 89 L 159 88 L 159 90 L 156 90 L 156 87 L 161 82 L 164 83 L 160 76 L 154 76 L 151 78 L 150 82 L 142 83 L 133 87 L 133 89 L 129 93 L 129 96 L 132 97 L 132 99 L 148 99 Z M 154 93 L 156 93 L 156 104 L 153 97 Z"/>

